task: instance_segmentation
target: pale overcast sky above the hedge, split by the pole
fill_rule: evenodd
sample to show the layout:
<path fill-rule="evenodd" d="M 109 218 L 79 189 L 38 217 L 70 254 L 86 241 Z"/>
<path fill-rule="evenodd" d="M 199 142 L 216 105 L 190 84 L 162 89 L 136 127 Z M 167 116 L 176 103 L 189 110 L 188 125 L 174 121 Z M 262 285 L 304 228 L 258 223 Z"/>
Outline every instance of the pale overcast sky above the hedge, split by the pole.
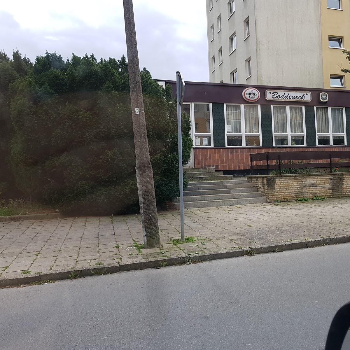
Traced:
<path fill-rule="evenodd" d="M 205 0 L 134 0 L 140 66 L 156 79 L 208 81 Z M 126 56 L 122 0 L 1 1 L 0 49 L 64 58 Z"/>

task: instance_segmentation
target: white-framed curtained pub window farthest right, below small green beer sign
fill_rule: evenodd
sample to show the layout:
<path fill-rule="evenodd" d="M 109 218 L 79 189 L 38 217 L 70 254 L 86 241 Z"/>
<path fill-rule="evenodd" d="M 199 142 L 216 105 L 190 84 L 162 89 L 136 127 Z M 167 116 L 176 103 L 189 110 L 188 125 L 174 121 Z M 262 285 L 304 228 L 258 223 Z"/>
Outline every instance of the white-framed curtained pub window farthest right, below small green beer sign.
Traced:
<path fill-rule="evenodd" d="M 345 108 L 315 107 L 317 146 L 346 145 Z"/>

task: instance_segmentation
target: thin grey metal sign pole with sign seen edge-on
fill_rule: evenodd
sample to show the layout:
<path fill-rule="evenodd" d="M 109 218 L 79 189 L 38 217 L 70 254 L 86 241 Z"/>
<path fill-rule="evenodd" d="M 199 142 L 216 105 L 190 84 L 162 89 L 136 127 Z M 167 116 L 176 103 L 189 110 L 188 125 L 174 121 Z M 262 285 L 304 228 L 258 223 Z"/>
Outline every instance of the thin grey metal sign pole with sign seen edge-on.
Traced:
<path fill-rule="evenodd" d="M 183 223 L 183 175 L 182 175 L 182 128 L 181 128 L 181 104 L 183 102 L 183 94 L 185 83 L 181 73 L 176 72 L 176 97 L 177 97 L 177 140 L 179 144 L 179 184 L 180 184 L 180 225 L 181 225 L 181 241 L 185 241 L 185 231 Z"/>

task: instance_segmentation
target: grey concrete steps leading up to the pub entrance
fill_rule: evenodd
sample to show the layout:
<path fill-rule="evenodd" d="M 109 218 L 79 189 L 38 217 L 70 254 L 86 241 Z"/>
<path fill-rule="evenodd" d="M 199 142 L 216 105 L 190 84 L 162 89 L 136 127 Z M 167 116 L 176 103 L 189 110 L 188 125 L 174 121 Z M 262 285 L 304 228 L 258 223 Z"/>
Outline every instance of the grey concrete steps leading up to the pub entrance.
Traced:
<path fill-rule="evenodd" d="M 215 172 L 215 168 L 184 169 L 189 184 L 183 192 L 184 208 L 223 207 L 227 205 L 265 203 L 266 198 L 247 179 Z M 174 201 L 180 208 L 180 198 Z"/>

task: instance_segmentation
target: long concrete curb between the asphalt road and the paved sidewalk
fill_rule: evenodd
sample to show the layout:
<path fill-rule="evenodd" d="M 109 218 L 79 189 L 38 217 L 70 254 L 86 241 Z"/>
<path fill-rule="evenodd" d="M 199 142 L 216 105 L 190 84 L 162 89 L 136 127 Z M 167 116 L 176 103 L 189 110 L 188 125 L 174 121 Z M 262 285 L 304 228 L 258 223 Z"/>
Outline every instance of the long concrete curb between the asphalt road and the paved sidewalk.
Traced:
<path fill-rule="evenodd" d="M 147 260 L 141 260 L 137 262 L 118 262 L 117 264 L 108 264 L 99 267 L 81 267 L 74 268 L 69 270 L 57 270 L 38 274 L 30 274 L 25 276 L 16 276 L 13 278 L 0 278 L 0 287 L 15 287 L 20 285 L 26 285 L 33 282 L 39 281 L 55 281 L 55 280 L 64 280 L 64 279 L 76 279 L 80 277 L 93 276 L 93 275 L 104 275 L 114 272 L 126 272 L 133 270 L 140 270 L 146 268 L 158 268 L 165 266 L 174 266 L 174 265 L 187 265 L 191 263 L 201 262 L 201 261 L 210 261 L 226 258 L 236 258 L 242 257 L 244 255 L 255 255 L 255 254 L 264 254 L 272 252 L 283 252 L 285 250 L 292 249 L 303 249 L 303 248 L 313 248 L 325 245 L 340 244 L 340 243 L 349 243 L 350 235 L 343 235 L 337 237 L 328 237 L 328 238 L 316 238 L 309 239 L 305 241 L 296 241 L 296 242 L 284 242 L 280 244 L 266 244 L 260 245 L 259 247 L 250 247 L 249 249 L 240 249 L 236 251 L 224 251 L 224 252 L 212 252 L 205 254 L 188 254 L 181 255 L 173 258 L 153 258 Z"/>

